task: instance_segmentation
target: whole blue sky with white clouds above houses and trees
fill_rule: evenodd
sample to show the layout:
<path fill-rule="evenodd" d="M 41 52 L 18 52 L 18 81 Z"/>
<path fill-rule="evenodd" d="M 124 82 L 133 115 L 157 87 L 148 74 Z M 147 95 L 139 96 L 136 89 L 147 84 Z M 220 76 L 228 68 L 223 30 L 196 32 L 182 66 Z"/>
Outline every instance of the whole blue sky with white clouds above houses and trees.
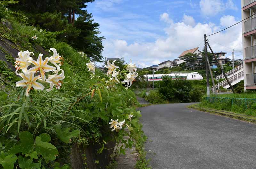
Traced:
<path fill-rule="evenodd" d="M 103 56 L 132 59 L 139 67 L 173 60 L 184 50 L 203 48 L 211 34 L 241 20 L 239 0 L 95 0 L 89 3 L 106 37 Z M 214 51 L 234 48 L 242 58 L 242 29 L 236 25 L 209 37 Z"/>

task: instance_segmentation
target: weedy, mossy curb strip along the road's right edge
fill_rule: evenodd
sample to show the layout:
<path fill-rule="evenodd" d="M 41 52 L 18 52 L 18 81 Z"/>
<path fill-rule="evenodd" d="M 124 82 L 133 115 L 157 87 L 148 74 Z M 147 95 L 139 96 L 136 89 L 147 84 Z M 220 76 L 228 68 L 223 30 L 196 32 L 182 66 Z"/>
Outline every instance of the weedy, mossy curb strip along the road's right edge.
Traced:
<path fill-rule="evenodd" d="M 214 113 L 214 114 L 218 114 L 218 115 L 221 115 L 221 116 L 227 116 L 227 117 L 230 117 L 230 118 L 235 118 L 235 119 L 238 119 L 238 120 L 242 120 L 242 121 L 246 121 L 246 122 L 256 124 L 256 117 L 252 117 L 252 116 L 236 114 L 236 113 L 228 112 L 228 111 L 224 111 L 224 110 L 216 110 L 216 109 L 198 107 L 198 104 L 189 105 L 188 108 L 196 109 L 196 110 L 204 111 L 204 112 L 208 112 L 208 113 Z"/>

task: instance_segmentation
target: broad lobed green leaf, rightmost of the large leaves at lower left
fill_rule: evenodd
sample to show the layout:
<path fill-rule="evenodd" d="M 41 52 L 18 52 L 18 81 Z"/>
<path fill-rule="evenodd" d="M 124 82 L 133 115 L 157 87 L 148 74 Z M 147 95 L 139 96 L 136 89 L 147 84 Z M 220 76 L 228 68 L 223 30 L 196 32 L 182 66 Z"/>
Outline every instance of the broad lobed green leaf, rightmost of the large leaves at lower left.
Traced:
<path fill-rule="evenodd" d="M 61 141 L 67 144 L 70 143 L 70 139 L 72 137 L 77 137 L 80 135 L 79 130 L 73 130 L 72 132 L 69 132 L 70 128 L 67 127 L 67 128 L 61 129 L 60 124 L 55 125 L 54 129 L 56 131 L 58 138 L 60 138 Z"/>

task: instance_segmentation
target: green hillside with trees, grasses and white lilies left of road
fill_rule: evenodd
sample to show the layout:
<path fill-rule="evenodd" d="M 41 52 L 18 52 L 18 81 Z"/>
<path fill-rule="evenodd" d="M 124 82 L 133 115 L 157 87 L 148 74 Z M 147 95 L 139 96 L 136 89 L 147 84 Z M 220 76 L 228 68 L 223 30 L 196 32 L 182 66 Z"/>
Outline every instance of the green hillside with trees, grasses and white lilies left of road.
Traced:
<path fill-rule="evenodd" d="M 103 38 L 82 10 L 92 0 L 54 2 L 0 1 L 1 167 L 106 168 L 119 143 L 117 153 L 135 145 L 146 167 L 138 103 L 124 86 L 136 66 L 95 70 Z"/>

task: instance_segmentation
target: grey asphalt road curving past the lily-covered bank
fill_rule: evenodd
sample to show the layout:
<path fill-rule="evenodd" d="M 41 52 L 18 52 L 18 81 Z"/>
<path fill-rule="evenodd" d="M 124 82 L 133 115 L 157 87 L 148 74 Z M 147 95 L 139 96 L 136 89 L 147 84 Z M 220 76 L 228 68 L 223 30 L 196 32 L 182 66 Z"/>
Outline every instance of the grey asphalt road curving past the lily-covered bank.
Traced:
<path fill-rule="evenodd" d="M 256 125 L 187 109 L 189 103 L 142 107 L 153 169 L 256 168 Z"/>

